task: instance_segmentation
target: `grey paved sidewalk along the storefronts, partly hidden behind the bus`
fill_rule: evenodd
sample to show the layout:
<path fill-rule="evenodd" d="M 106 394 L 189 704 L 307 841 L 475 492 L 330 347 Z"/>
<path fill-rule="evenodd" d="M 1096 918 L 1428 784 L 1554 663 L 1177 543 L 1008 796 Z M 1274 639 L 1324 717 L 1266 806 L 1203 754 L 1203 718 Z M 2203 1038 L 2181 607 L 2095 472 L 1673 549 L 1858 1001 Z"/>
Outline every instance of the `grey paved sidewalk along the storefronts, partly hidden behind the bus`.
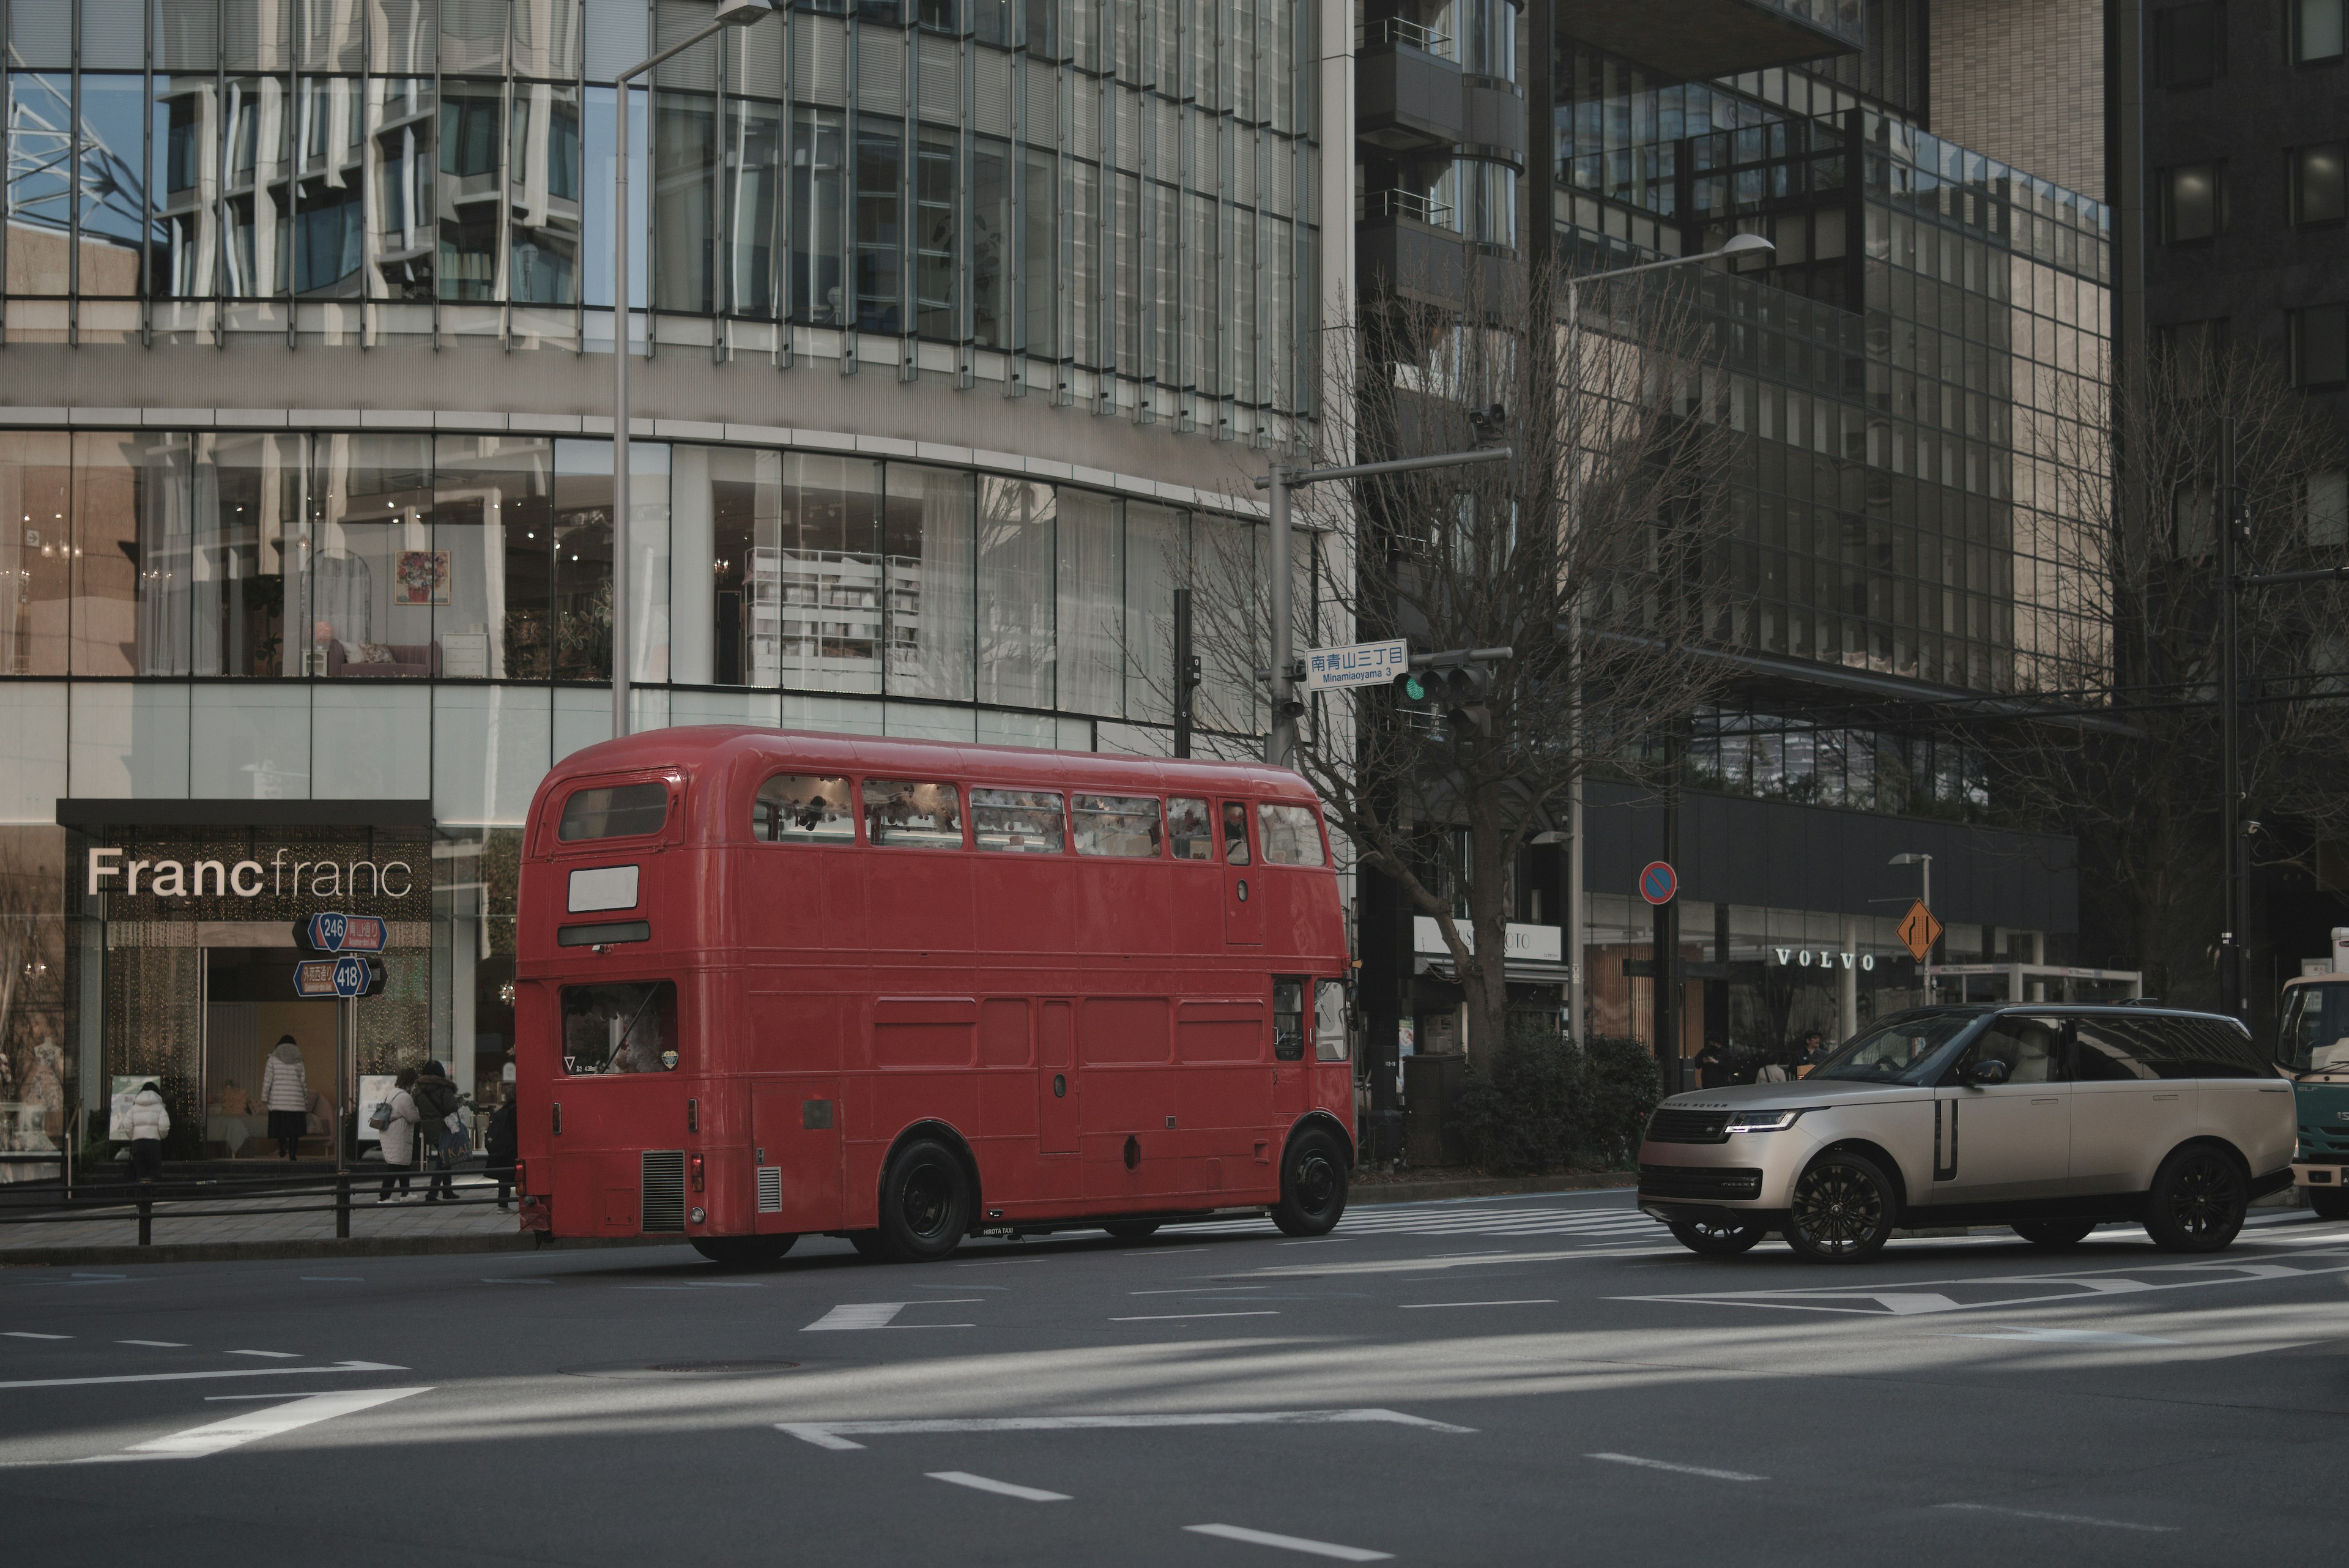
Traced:
<path fill-rule="evenodd" d="M 329 1194 L 287 1194 L 251 1199 L 167 1199 L 155 1204 L 153 1246 L 139 1246 L 136 1201 L 82 1211 L 85 1218 L 61 1225 L 9 1225 L 0 1213 L 0 1267 L 49 1267 L 75 1262 L 230 1262 L 249 1258 L 402 1258 L 423 1253 L 507 1253 L 540 1246 L 524 1234 L 519 1215 L 491 1201 L 470 1204 L 376 1204 L 381 1168 L 350 1185 L 350 1239 L 334 1234 L 334 1208 L 317 1213 L 223 1213 L 291 1208 L 329 1201 Z M 1374 1180 L 1355 1185 L 1348 1201 L 1426 1204 L 1433 1199 L 1503 1197 L 1527 1192 L 1581 1192 L 1588 1187 L 1628 1187 L 1633 1175 L 1534 1175 L 1522 1180 L 1431 1178 Z M 423 1178 L 418 1178 L 418 1192 Z M 458 1197 L 493 1199 L 498 1182 L 479 1171 L 456 1173 Z M 179 1220 L 174 1211 L 202 1211 L 202 1218 Z M 684 1237 L 608 1237 L 552 1241 L 545 1246 L 677 1246 Z"/>

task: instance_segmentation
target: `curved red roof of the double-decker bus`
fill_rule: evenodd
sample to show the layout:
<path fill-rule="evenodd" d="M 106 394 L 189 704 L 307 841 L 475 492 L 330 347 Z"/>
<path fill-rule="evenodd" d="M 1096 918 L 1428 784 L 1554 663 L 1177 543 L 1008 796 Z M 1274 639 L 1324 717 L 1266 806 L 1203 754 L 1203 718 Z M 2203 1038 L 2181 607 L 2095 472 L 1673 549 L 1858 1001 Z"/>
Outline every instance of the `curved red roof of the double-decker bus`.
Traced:
<path fill-rule="evenodd" d="M 681 724 L 601 741 L 571 752 L 540 783 L 540 797 L 576 778 L 684 766 L 700 776 L 775 764 L 810 771 L 949 773 L 977 783 L 1062 785 L 1073 790 L 1221 790 L 1250 797 L 1313 799 L 1313 785 L 1264 762 L 1203 762 L 1174 757 L 1123 757 L 1116 752 L 1057 752 L 1029 745 L 965 745 L 961 741 L 902 741 L 883 736 L 834 736 L 754 724 Z"/>

